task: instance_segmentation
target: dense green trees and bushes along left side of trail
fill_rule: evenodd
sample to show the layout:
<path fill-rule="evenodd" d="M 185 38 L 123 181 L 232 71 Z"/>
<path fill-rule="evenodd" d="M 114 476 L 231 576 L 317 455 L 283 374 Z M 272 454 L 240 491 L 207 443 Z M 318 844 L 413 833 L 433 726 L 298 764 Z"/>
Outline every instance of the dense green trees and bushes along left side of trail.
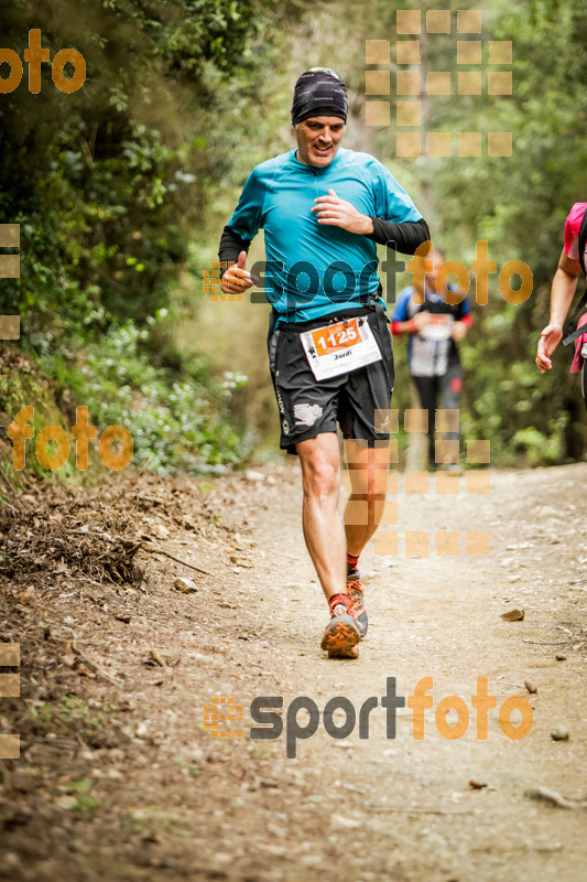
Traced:
<path fill-rule="evenodd" d="M 40 28 L 51 57 L 64 46 L 83 54 L 87 78 L 66 95 L 43 64 L 39 95 L 25 68 L 1 96 L 0 215 L 21 225 L 21 278 L 2 280 L 0 312 L 20 313 L 21 345 L 66 406 L 87 405 L 100 429 L 126 426 L 137 460 L 159 472 L 214 471 L 247 453 L 226 412 L 243 378 L 215 383 L 177 348 L 175 290 L 235 160 L 226 115 L 256 94 L 280 23 L 301 6 L 14 0 L 2 9 L 3 45 L 22 57 L 29 28 Z M 150 326 L 165 311 L 167 326 Z"/>

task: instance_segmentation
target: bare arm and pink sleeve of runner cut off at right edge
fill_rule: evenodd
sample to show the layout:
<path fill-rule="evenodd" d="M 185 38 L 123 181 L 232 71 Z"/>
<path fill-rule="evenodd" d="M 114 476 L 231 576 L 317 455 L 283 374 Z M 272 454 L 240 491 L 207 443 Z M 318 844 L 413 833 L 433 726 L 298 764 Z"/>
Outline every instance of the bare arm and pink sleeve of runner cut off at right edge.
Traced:
<path fill-rule="evenodd" d="M 565 222 L 565 244 L 551 287 L 551 318 L 540 335 L 536 353 L 541 374 L 553 366 L 551 356 L 563 337 L 563 325 L 577 290 L 581 262 L 584 269 L 586 266 L 587 249 L 579 256 L 579 235 L 586 208 L 587 202 L 576 202 Z"/>

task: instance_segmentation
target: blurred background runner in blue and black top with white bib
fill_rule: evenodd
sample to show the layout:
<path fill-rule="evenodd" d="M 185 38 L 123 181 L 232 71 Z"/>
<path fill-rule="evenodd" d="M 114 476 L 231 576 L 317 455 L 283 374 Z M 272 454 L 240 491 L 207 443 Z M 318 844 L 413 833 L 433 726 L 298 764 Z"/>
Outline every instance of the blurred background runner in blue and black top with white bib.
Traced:
<path fill-rule="evenodd" d="M 428 260 L 432 271 L 424 275 L 424 302 L 414 303 L 413 286 L 398 297 L 391 330 L 393 334 L 410 334 L 407 364 L 417 390 L 421 407 L 428 411 L 428 467 L 438 464 L 435 453 L 436 408 L 442 400 L 449 410 L 458 408 L 463 386 L 463 367 L 457 342 L 471 324 L 470 304 L 455 286 L 436 290 L 436 272 L 444 262 L 443 251 L 436 248 Z M 422 299 L 421 297 L 418 299 Z M 445 432 L 445 439 L 458 440 L 458 432 Z"/>

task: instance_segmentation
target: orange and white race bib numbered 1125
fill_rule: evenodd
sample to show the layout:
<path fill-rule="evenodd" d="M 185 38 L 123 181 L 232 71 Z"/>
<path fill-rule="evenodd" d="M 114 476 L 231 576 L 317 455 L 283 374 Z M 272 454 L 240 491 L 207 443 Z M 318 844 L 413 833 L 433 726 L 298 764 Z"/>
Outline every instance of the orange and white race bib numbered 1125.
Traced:
<path fill-rule="evenodd" d="M 362 315 L 337 324 L 326 324 L 300 334 L 312 373 L 328 379 L 381 359 L 381 352 Z"/>

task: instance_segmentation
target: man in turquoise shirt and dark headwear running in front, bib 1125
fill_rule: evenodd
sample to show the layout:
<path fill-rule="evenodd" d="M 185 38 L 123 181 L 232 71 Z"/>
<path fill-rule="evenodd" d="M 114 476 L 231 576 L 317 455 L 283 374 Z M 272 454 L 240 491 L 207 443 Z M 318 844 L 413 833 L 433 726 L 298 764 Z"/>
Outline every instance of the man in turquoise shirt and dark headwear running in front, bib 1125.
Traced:
<path fill-rule="evenodd" d="M 304 538 L 330 609 L 320 645 L 331 657 L 357 658 L 368 626 L 357 564 L 381 518 L 376 499 L 385 493 L 373 449 L 387 449 L 389 432 L 378 429 L 389 427 L 376 427 L 376 410 L 389 409 L 393 389 L 377 243 L 412 255 L 430 233 L 382 163 L 340 147 L 347 109 L 345 84 L 333 71 L 302 74 L 291 111 L 297 147 L 253 170 L 224 229 L 219 257 L 236 263 L 222 275 L 221 290 L 247 290 L 253 284 L 247 251 L 264 229 L 280 447 L 300 455 Z M 360 525 L 345 513 L 344 526 L 338 514 L 337 421 L 351 464 L 349 502 L 367 501 Z"/>

